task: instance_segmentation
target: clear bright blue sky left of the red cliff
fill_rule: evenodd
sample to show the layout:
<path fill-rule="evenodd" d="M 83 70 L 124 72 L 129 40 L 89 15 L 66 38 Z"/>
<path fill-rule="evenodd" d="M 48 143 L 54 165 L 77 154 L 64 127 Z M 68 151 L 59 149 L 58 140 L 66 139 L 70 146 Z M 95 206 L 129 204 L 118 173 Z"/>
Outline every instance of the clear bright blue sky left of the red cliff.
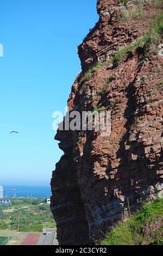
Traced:
<path fill-rule="evenodd" d="M 77 45 L 98 21 L 96 2 L 1 0 L 0 184 L 49 184 L 62 155 L 52 113 L 67 105 L 80 71 Z"/>

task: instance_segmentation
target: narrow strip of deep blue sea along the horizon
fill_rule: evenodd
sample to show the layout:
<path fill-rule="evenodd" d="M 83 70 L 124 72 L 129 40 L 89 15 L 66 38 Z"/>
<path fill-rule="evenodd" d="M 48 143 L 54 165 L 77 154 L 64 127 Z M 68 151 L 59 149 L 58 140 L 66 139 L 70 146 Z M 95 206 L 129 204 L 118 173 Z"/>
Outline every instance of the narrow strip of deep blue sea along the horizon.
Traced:
<path fill-rule="evenodd" d="M 22 185 L 3 185 L 3 190 L 16 189 L 17 191 L 5 191 L 5 197 L 51 197 L 50 186 L 22 186 Z"/>

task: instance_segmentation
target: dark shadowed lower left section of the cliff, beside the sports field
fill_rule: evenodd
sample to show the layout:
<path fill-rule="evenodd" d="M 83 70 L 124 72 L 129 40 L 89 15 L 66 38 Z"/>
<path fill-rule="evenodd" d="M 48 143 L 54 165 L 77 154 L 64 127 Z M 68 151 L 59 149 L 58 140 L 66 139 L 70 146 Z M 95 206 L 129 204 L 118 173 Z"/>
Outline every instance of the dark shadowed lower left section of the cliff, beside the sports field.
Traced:
<path fill-rule="evenodd" d="M 73 159 L 61 160 L 52 177 L 51 210 L 60 245 L 87 245 L 89 228 Z"/>

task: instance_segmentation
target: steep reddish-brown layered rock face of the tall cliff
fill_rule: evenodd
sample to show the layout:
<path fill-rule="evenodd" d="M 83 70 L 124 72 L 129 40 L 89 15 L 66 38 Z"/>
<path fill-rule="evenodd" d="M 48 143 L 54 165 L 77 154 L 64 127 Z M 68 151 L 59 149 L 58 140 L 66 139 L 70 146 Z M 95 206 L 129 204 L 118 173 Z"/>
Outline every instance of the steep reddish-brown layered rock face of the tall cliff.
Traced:
<path fill-rule="evenodd" d="M 143 8 L 143 14 L 123 20 L 122 10 L 130 8 Z M 90 244 L 122 221 L 126 210 L 135 211 L 143 200 L 153 200 L 163 191 L 163 56 L 158 54 L 163 40 L 149 48 L 135 47 L 109 62 L 149 33 L 149 21 L 160 8 L 148 1 L 125 6 L 118 0 L 98 0 L 97 10 L 99 21 L 78 48 L 82 72 L 72 86 L 68 107 L 79 112 L 97 103 L 109 107 L 111 135 L 58 130 L 55 136 L 65 153 L 51 181 L 60 245 Z M 105 65 L 81 84 L 97 62 Z"/>

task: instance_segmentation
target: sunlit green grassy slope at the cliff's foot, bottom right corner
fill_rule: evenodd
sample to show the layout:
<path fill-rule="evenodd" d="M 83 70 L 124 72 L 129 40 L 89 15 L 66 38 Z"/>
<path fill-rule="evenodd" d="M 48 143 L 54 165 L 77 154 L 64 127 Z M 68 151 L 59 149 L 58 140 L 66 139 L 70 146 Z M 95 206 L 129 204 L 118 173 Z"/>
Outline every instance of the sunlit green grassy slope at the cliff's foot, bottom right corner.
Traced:
<path fill-rule="evenodd" d="M 163 245 L 163 199 L 145 204 L 137 214 L 117 225 L 101 245 Z"/>

